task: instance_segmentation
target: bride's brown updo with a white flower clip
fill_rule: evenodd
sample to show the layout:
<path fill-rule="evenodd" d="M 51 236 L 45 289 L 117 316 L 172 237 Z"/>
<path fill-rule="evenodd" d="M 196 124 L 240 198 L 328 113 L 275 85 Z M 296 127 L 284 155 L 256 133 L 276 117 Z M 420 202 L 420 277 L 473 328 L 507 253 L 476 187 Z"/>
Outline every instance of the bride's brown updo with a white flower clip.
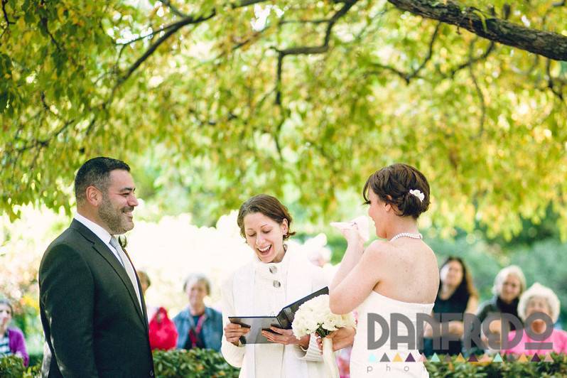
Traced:
<path fill-rule="evenodd" d="M 362 197 L 369 204 L 368 190 L 384 202 L 394 205 L 401 217 L 417 219 L 429 207 L 429 184 L 426 177 L 412 166 L 396 163 L 370 175 L 362 189 Z"/>

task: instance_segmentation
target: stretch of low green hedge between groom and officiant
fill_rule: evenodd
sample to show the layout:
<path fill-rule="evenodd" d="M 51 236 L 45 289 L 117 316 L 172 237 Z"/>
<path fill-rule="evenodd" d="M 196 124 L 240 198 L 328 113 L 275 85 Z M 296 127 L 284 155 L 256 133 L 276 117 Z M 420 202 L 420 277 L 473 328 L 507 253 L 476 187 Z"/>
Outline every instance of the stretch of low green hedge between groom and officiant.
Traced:
<path fill-rule="evenodd" d="M 156 377 L 238 377 L 239 369 L 227 364 L 219 352 L 206 349 L 156 350 L 153 352 Z"/>

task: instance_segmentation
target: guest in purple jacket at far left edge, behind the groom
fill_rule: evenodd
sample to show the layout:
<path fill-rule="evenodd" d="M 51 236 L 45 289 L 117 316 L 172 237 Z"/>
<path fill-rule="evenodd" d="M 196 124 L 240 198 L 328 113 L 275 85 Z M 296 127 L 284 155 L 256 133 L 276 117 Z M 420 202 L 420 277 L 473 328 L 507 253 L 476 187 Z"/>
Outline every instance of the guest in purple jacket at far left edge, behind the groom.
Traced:
<path fill-rule="evenodd" d="M 0 299 L 0 358 L 15 355 L 21 357 L 23 365 L 28 366 L 30 357 L 26 351 L 26 340 L 16 327 L 9 327 L 13 308 L 7 299 Z"/>

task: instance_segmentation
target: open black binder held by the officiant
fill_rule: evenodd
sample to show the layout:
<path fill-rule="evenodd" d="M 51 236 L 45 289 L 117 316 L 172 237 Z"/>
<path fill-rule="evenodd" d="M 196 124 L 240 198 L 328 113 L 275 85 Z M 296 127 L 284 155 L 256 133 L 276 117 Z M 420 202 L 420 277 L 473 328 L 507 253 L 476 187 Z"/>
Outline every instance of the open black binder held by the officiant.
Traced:
<path fill-rule="evenodd" d="M 298 299 L 297 301 L 282 308 L 276 316 L 229 316 L 228 320 L 230 323 L 250 328 L 249 333 L 240 337 L 240 342 L 242 342 L 242 344 L 267 344 L 269 341 L 262 336 L 262 330 L 272 332 L 270 330 L 272 325 L 277 328 L 283 328 L 284 330 L 291 330 L 291 323 L 293 323 L 293 318 L 295 318 L 299 306 L 316 296 L 322 296 L 328 293 L 329 288 L 325 286 L 324 288 L 321 288 L 320 290 Z"/>

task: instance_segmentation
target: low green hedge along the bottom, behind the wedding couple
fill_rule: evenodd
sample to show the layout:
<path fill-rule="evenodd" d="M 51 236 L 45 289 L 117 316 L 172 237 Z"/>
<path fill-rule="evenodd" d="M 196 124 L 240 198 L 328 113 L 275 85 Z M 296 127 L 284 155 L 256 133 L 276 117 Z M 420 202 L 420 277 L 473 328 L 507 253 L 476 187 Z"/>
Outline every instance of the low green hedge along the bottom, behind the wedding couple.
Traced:
<path fill-rule="evenodd" d="M 431 378 L 441 377 L 567 377 L 567 355 L 552 354 L 554 362 L 425 362 Z M 216 378 L 238 377 L 239 370 L 228 365 L 220 353 L 212 350 L 169 350 L 153 352 L 156 378 Z M 395 363 L 395 362 L 394 362 Z M 19 357 L 9 356 L 0 359 L 0 377 L 36 377 L 41 367 L 24 368 Z"/>

